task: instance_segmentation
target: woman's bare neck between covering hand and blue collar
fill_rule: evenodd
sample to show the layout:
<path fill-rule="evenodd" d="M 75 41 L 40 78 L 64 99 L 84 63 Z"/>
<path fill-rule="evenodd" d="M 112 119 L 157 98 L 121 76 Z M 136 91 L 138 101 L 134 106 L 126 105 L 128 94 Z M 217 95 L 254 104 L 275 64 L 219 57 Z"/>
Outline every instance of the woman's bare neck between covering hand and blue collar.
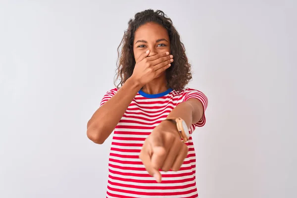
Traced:
<path fill-rule="evenodd" d="M 146 94 L 160 94 L 168 90 L 166 75 L 162 75 L 158 78 L 153 79 L 146 84 L 142 91 Z"/>

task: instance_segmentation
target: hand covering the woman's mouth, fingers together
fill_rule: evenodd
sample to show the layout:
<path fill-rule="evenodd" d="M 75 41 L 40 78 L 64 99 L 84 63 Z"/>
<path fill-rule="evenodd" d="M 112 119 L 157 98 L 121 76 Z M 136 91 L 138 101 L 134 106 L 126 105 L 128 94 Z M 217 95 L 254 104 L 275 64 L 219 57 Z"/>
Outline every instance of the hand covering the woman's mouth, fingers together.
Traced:
<path fill-rule="evenodd" d="M 149 50 L 141 54 L 136 60 L 131 76 L 141 86 L 148 84 L 151 80 L 158 77 L 173 62 L 173 55 L 169 55 L 169 52 L 157 53 L 149 57 L 148 54 Z"/>

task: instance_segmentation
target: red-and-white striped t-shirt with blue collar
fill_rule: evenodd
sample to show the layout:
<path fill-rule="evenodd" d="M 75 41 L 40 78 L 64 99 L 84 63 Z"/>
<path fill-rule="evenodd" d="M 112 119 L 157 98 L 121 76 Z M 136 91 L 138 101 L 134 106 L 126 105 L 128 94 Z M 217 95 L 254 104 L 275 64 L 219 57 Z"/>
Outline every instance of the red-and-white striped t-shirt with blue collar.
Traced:
<path fill-rule="evenodd" d="M 118 89 L 108 91 L 100 106 L 116 94 Z M 157 183 L 151 177 L 141 159 L 140 151 L 145 139 L 171 110 L 179 103 L 195 98 L 207 107 L 206 96 L 194 89 L 181 91 L 172 89 L 161 94 L 149 95 L 142 91 L 133 99 L 116 126 L 108 163 L 108 184 L 106 198 L 197 198 L 196 154 L 190 135 L 188 156 L 179 171 L 161 171 L 162 181 Z M 205 114 L 189 130 L 205 124 Z"/>

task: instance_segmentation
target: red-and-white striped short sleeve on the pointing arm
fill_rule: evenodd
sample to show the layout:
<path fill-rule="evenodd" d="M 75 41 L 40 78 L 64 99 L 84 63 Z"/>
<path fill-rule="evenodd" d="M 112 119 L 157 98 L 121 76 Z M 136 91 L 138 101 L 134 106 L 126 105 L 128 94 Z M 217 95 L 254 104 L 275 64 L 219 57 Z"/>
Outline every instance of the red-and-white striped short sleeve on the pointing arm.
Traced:
<path fill-rule="evenodd" d="M 195 89 L 186 89 L 184 96 L 183 96 L 183 101 L 187 101 L 188 99 L 198 99 L 203 106 L 203 115 L 201 117 L 201 119 L 195 123 L 194 125 L 196 127 L 202 127 L 205 125 L 206 122 L 206 118 L 205 118 L 205 110 L 207 108 L 208 105 L 208 99 L 207 97 L 200 91 L 195 90 Z"/>

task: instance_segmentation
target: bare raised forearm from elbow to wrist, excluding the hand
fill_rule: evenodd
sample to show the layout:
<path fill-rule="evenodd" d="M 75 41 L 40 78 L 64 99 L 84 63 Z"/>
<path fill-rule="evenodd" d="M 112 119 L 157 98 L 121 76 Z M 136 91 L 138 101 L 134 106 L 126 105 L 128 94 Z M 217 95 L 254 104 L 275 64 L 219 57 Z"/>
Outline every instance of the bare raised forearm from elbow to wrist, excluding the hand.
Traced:
<path fill-rule="evenodd" d="M 100 106 L 88 122 L 89 139 L 102 144 L 119 123 L 140 89 L 141 85 L 133 79 L 128 79 L 111 99 Z"/>

